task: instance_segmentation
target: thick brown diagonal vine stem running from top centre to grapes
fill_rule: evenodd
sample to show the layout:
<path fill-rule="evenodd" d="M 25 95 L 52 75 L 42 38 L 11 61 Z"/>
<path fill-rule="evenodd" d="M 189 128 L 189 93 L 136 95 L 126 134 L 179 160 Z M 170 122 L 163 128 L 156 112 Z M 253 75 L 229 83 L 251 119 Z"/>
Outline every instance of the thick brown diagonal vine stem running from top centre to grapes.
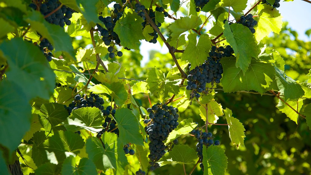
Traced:
<path fill-rule="evenodd" d="M 137 4 L 141 5 L 141 3 L 139 2 L 139 0 L 135 0 Z M 145 9 L 143 9 L 143 12 L 145 13 L 146 19 L 149 22 L 149 24 L 152 26 L 152 28 L 158 33 L 158 35 L 160 35 L 160 38 L 163 40 L 164 44 L 166 45 L 166 47 L 169 49 L 169 53 L 171 54 L 179 72 L 181 73 L 181 76 L 183 78 L 187 78 L 187 74 L 183 71 L 183 69 L 181 69 L 180 65 L 177 62 L 176 56 L 174 54 L 174 48 L 169 45 L 169 43 L 166 42 L 165 37 L 163 36 L 163 34 L 161 33 L 161 31 L 159 30 L 159 28 L 156 26 L 156 24 L 151 20 L 151 18 L 149 17 L 148 13 L 146 12 Z"/>

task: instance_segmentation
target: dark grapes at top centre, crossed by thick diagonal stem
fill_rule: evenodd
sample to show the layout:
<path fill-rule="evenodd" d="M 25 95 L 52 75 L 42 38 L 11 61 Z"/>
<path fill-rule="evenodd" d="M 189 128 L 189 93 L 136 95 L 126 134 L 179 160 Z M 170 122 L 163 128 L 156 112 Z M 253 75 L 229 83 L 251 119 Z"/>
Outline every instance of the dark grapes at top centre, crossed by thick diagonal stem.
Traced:
<path fill-rule="evenodd" d="M 145 11 L 148 13 L 149 17 L 151 18 L 151 20 L 156 24 L 156 26 L 159 28 L 161 26 L 160 22 L 156 22 L 156 15 L 155 12 L 152 10 L 152 8 L 150 8 L 150 10 L 146 9 L 144 5 L 139 5 L 139 4 L 135 4 L 135 12 L 142 17 L 143 20 L 145 20 L 144 22 L 142 22 L 142 26 L 143 29 L 147 26 L 150 25 L 149 23 L 147 23 L 146 21 L 146 16 L 145 16 L 145 12 L 143 12 L 143 10 L 145 9 Z M 168 17 L 169 14 L 168 12 L 164 12 L 164 8 L 163 7 L 156 7 L 156 11 L 157 12 L 163 12 L 165 17 Z M 151 25 L 150 25 L 151 26 Z M 158 34 L 157 32 L 153 29 L 152 33 L 149 33 L 149 35 L 153 36 L 153 39 L 151 39 L 150 43 L 156 44 L 157 42 L 157 38 L 158 38 Z"/>

